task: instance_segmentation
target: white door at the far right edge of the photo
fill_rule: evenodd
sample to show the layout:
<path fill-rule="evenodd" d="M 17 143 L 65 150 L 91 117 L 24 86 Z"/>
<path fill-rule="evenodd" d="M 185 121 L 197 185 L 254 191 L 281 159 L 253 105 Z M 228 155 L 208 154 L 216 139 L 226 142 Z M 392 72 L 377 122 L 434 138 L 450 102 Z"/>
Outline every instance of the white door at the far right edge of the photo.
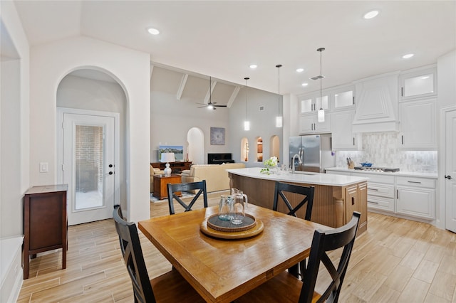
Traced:
<path fill-rule="evenodd" d="M 445 203 L 446 228 L 456 233 L 456 110 L 445 116 Z"/>

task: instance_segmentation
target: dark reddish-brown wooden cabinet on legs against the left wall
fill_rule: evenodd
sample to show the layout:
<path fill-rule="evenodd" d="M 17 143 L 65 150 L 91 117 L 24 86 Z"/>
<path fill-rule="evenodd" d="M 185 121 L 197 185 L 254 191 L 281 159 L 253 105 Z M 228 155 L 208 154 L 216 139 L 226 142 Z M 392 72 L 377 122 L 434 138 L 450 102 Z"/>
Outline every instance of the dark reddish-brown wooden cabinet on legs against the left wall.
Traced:
<path fill-rule="evenodd" d="M 24 280 L 28 279 L 30 257 L 38 252 L 62 249 L 66 268 L 68 184 L 33 186 L 24 198 Z"/>

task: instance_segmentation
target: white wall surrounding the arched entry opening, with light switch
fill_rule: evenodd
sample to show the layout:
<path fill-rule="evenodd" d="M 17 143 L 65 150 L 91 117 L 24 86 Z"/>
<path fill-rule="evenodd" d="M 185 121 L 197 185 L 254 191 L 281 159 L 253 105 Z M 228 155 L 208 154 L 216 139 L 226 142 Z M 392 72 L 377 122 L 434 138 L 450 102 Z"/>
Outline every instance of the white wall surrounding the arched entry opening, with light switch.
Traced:
<path fill-rule="evenodd" d="M 31 48 L 31 184 L 57 182 L 56 95 L 63 77 L 81 68 L 111 75 L 127 96 L 128 220 L 150 218 L 150 55 L 86 37 Z M 40 173 L 40 162 L 49 172 Z"/>

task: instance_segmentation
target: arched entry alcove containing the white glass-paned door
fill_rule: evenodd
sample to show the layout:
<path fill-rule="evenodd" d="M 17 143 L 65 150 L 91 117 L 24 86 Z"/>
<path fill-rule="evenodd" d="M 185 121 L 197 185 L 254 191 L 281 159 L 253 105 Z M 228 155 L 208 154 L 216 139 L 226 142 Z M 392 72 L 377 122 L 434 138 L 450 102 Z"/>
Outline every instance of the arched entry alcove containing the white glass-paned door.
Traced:
<path fill-rule="evenodd" d="M 126 201 L 120 186 L 125 186 L 120 149 L 126 145 L 125 92 L 108 73 L 84 68 L 61 80 L 56 105 L 63 167 L 58 178 L 68 184 L 68 224 L 111 218 L 113 205 Z"/>

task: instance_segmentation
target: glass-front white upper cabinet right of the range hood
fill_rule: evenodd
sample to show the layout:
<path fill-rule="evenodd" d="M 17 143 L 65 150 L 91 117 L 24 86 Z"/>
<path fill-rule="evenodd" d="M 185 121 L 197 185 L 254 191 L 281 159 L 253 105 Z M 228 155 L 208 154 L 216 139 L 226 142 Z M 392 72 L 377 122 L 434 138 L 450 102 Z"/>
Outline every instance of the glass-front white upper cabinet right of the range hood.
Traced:
<path fill-rule="evenodd" d="M 437 95 L 437 68 L 435 65 L 415 68 L 400 76 L 401 100 Z"/>

